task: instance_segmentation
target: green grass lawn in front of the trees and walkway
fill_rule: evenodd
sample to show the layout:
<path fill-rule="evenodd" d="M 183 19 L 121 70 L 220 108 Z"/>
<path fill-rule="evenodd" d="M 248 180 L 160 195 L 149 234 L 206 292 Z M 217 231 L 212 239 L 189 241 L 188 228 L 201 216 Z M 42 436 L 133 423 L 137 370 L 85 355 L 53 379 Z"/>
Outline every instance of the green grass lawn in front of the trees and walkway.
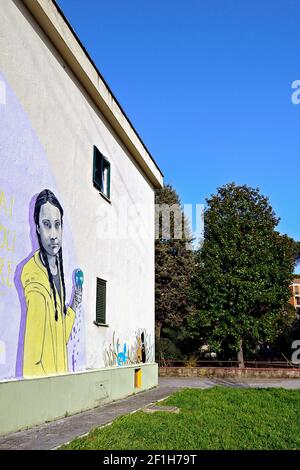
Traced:
<path fill-rule="evenodd" d="M 180 413 L 122 416 L 62 449 L 300 449 L 300 390 L 186 389 L 160 403 Z"/>

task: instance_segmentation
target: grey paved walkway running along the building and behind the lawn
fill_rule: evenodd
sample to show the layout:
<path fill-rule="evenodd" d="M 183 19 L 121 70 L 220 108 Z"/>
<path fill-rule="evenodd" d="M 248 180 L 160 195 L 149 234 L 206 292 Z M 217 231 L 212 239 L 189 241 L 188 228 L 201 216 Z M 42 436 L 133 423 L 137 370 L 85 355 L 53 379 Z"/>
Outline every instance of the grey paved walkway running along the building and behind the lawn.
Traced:
<path fill-rule="evenodd" d="M 181 388 L 209 388 L 215 385 L 227 387 L 283 387 L 300 389 L 300 379 L 234 379 L 219 378 L 176 378 L 161 377 L 159 386 L 147 392 L 130 396 L 117 402 L 94 408 L 52 423 L 36 426 L 0 437 L 0 450 L 49 450 L 54 449 L 77 436 L 82 436 L 98 426 L 110 423 L 118 416 L 142 409 L 150 403 L 166 398 Z"/>

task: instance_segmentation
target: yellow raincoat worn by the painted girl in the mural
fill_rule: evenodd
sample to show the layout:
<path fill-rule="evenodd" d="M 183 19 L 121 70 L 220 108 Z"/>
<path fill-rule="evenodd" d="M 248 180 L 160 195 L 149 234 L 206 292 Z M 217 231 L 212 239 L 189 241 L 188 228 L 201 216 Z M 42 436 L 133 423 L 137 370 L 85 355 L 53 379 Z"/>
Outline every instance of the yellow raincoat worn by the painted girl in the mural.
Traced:
<path fill-rule="evenodd" d="M 58 320 L 55 320 L 54 296 L 39 251 L 24 265 L 21 282 L 27 305 L 24 377 L 68 373 L 67 344 L 75 312 L 68 307 L 67 314 L 64 315 L 56 290 Z"/>

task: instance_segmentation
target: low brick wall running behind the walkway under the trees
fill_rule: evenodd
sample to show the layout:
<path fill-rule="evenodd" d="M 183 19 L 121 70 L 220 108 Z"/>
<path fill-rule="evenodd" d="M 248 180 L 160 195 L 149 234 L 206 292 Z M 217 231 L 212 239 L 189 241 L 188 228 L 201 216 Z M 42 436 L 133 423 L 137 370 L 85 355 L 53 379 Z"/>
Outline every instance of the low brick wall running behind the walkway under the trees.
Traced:
<path fill-rule="evenodd" d="M 300 369 L 238 369 L 224 367 L 160 367 L 160 377 L 223 377 L 223 378 L 300 378 Z"/>

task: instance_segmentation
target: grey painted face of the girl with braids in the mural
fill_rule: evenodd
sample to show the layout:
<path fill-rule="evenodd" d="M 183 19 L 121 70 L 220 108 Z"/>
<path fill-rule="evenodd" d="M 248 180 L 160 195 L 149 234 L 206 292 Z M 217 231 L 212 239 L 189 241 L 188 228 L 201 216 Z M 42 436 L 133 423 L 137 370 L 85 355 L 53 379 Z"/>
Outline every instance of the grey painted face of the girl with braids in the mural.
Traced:
<path fill-rule="evenodd" d="M 62 243 L 62 224 L 59 209 L 50 202 L 41 206 L 37 231 L 48 255 L 56 256 Z"/>

